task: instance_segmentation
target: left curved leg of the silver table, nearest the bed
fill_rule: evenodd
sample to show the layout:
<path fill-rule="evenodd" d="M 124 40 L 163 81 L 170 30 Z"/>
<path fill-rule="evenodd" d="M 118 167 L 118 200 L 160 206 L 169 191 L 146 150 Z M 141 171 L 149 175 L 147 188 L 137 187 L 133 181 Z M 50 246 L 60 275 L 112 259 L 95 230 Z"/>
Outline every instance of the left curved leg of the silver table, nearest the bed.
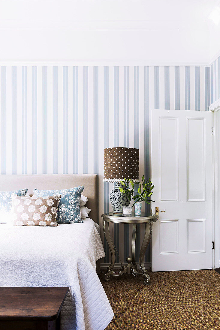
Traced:
<path fill-rule="evenodd" d="M 109 281 L 110 275 L 122 275 L 122 274 L 126 273 L 126 266 L 123 266 L 123 268 L 120 272 L 114 272 L 112 270 L 113 267 L 115 266 L 115 249 L 114 249 L 114 245 L 112 243 L 112 239 L 111 239 L 110 232 L 109 232 L 109 222 L 105 221 L 104 219 L 103 219 L 103 231 L 104 231 L 104 235 L 105 235 L 106 241 L 108 243 L 108 246 L 110 248 L 110 252 L 111 252 L 111 256 L 112 256 L 111 265 L 107 268 L 107 272 L 104 275 L 104 280 Z"/>

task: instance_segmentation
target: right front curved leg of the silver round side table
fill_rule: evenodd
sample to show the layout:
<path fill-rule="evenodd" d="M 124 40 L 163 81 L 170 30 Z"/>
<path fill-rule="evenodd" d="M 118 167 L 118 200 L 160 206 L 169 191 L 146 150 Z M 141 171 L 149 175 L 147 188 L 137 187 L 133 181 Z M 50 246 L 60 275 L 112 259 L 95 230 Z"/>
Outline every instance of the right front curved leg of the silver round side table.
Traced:
<path fill-rule="evenodd" d="M 144 240 L 141 246 L 141 250 L 140 250 L 140 258 L 139 258 L 139 262 L 140 262 L 140 269 L 141 269 L 141 273 L 138 273 L 136 271 L 136 269 L 132 269 L 131 273 L 136 276 L 136 277 L 140 277 L 144 279 L 144 284 L 150 284 L 151 279 L 150 276 L 148 274 L 148 271 L 145 269 L 144 267 L 144 256 L 145 256 L 145 252 L 147 249 L 147 246 L 150 242 L 151 239 L 151 235 L 152 235 L 152 220 L 150 220 L 149 223 L 146 224 L 146 230 L 145 230 L 145 234 L 144 234 Z"/>

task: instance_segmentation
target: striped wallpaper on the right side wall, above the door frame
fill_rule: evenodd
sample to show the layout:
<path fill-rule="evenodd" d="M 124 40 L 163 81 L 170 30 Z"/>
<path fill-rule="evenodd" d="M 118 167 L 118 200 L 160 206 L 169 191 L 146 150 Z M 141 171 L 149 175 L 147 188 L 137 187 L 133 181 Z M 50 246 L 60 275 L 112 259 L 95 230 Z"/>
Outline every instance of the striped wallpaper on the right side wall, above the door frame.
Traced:
<path fill-rule="evenodd" d="M 210 104 L 220 98 L 220 56 L 210 66 Z"/>

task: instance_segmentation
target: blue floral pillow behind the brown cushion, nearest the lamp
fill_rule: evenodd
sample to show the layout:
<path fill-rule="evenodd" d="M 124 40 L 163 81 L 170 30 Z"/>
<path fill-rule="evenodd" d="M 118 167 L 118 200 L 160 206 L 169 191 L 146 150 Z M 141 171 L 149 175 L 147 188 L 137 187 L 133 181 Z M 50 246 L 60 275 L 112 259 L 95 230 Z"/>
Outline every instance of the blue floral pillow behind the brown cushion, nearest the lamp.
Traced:
<path fill-rule="evenodd" d="M 61 195 L 58 206 L 58 214 L 56 222 L 62 223 L 79 223 L 83 222 L 80 214 L 80 198 L 84 186 L 70 189 L 60 190 L 38 190 L 34 189 L 37 196 Z"/>

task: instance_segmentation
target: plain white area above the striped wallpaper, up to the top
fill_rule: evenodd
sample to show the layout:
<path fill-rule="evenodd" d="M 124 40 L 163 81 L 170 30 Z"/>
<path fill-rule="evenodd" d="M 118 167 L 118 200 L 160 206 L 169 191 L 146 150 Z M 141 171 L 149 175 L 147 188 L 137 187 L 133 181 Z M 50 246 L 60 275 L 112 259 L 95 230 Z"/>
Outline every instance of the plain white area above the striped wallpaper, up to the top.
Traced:
<path fill-rule="evenodd" d="M 2 62 L 207 65 L 216 0 L 1 0 Z"/>

